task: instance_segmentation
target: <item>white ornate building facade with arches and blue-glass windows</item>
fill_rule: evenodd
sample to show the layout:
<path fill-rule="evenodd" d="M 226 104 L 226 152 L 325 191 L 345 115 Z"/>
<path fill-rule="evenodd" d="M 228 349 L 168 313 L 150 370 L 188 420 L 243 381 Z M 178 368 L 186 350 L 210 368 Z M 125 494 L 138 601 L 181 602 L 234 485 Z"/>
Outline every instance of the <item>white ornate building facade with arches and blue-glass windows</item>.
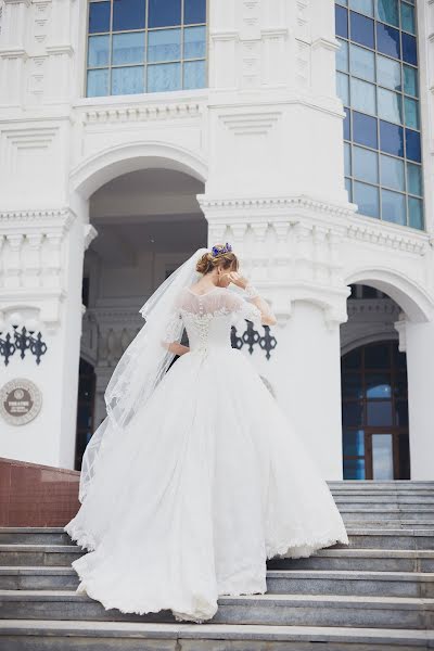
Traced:
<path fill-rule="evenodd" d="M 138 309 L 228 241 L 324 477 L 434 478 L 432 0 L 0 4 L 0 391 L 41 400 L 0 456 L 78 469 Z"/>

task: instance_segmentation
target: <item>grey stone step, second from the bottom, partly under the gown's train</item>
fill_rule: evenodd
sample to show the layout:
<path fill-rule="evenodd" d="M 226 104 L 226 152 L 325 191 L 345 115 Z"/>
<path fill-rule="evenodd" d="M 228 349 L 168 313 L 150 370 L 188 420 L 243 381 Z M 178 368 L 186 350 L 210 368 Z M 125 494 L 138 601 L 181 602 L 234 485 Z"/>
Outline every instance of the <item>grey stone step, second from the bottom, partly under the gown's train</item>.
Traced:
<path fill-rule="evenodd" d="M 71 590 L 0 590 L 0 617 L 175 622 L 168 611 L 122 613 Z M 318 595 L 220 597 L 213 623 L 285 626 L 434 628 L 434 599 Z"/>

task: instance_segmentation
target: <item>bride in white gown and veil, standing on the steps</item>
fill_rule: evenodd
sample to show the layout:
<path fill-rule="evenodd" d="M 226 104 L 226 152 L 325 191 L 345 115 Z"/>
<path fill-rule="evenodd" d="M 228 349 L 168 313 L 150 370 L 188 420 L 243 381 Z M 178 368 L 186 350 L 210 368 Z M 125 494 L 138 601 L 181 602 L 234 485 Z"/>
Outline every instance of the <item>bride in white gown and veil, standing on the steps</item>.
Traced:
<path fill-rule="evenodd" d="M 140 311 L 64 529 L 89 550 L 72 563 L 77 592 L 124 613 L 204 622 L 220 595 L 266 592 L 267 559 L 348 537 L 284 412 L 231 347 L 232 324 L 276 317 L 230 244 L 197 250 Z"/>

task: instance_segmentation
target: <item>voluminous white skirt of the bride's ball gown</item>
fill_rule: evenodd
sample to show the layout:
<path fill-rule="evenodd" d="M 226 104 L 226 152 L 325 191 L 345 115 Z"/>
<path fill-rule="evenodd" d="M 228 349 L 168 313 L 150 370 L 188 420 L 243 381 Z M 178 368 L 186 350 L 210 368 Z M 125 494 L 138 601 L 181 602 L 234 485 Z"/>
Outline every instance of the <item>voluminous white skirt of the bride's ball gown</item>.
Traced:
<path fill-rule="evenodd" d="M 266 592 L 267 559 L 348 544 L 319 469 L 251 359 L 231 348 L 230 324 L 220 317 L 206 347 L 188 328 L 190 352 L 64 527 L 89 550 L 72 563 L 77 591 L 105 609 L 203 622 L 218 596 Z"/>

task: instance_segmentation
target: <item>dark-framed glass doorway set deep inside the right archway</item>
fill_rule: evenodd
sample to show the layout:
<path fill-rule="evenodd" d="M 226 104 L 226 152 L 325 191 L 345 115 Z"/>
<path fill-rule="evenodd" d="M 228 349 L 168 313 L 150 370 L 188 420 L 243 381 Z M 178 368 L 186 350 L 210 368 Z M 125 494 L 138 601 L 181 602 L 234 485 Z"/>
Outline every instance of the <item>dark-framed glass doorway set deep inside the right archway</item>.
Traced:
<path fill-rule="evenodd" d="M 342 357 L 345 480 L 410 478 L 407 362 L 396 341 Z"/>

